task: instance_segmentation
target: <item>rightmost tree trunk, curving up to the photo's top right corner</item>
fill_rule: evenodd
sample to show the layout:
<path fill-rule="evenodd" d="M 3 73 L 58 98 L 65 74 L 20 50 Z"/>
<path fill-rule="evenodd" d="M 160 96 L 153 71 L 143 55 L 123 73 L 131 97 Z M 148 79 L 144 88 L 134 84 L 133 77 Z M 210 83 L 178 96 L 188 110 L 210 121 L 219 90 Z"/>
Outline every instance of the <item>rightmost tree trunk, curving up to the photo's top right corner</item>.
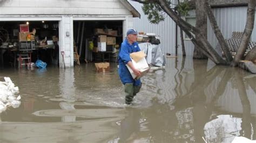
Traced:
<path fill-rule="evenodd" d="M 241 39 L 237 54 L 235 55 L 235 58 L 232 62 L 232 66 L 237 66 L 238 62 L 242 60 L 242 58 L 244 58 L 244 54 L 248 46 L 249 40 L 251 38 L 251 34 L 254 26 L 254 15 L 255 15 L 255 0 L 249 0 L 245 30 L 244 30 L 244 33 L 242 33 L 242 39 Z"/>

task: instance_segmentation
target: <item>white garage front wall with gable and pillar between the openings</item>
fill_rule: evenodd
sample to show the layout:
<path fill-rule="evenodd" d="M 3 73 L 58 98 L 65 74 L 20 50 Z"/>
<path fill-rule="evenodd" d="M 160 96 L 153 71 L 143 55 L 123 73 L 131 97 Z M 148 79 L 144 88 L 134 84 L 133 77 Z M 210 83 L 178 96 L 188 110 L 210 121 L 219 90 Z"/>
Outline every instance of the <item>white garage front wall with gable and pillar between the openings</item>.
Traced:
<path fill-rule="evenodd" d="M 119 0 L 2 0 L 1 21 L 59 21 L 59 52 L 65 67 L 73 67 L 73 20 L 123 20 L 133 27 L 132 13 Z M 124 32 L 125 37 L 125 32 Z M 64 67 L 59 53 L 60 67 Z"/>

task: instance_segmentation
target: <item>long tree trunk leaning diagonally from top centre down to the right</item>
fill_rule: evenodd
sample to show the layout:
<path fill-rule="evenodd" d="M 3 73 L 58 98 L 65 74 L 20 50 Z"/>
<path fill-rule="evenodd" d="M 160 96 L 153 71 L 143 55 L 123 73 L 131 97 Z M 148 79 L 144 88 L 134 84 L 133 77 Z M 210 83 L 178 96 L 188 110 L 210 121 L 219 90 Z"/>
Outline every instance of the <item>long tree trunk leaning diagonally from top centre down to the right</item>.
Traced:
<path fill-rule="evenodd" d="M 201 35 L 200 30 L 198 28 L 186 23 L 183 19 L 179 18 L 178 15 L 170 8 L 170 5 L 166 3 L 166 0 L 159 0 L 158 4 L 161 9 L 163 9 L 167 15 L 169 15 L 172 20 L 178 24 L 181 29 L 188 35 L 188 37 L 192 38 L 192 42 L 195 46 L 199 46 L 201 52 L 203 52 L 209 59 L 211 59 L 217 65 L 227 65 L 227 62 L 221 58 L 221 56 L 213 49 L 211 44 L 207 41 L 207 39 Z M 197 35 L 197 39 L 191 35 Z"/>

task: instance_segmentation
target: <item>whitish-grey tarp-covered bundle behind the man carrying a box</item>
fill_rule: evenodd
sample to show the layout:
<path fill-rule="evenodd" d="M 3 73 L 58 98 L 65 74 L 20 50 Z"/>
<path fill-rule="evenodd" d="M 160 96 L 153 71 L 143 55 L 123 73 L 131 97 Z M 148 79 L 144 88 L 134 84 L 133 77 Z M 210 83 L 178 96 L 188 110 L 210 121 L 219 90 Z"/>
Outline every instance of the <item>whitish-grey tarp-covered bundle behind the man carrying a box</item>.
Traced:
<path fill-rule="evenodd" d="M 147 55 L 147 63 L 158 67 L 165 66 L 165 56 L 160 45 L 154 45 L 150 42 L 143 42 L 139 44 L 139 47 L 140 50 Z"/>

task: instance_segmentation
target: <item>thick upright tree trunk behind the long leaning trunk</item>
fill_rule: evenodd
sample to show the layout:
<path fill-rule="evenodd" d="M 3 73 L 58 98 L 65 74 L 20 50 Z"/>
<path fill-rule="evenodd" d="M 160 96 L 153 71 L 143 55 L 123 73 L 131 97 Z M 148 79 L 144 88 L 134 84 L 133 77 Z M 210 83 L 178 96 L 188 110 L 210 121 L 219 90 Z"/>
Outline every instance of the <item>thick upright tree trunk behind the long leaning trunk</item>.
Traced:
<path fill-rule="evenodd" d="M 205 9 L 205 0 L 196 0 L 196 27 L 200 29 L 201 35 L 207 39 L 207 15 Z M 196 39 L 199 37 L 196 35 Z M 194 46 L 194 59 L 207 59 L 207 57 L 200 51 L 198 46 Z"/>

